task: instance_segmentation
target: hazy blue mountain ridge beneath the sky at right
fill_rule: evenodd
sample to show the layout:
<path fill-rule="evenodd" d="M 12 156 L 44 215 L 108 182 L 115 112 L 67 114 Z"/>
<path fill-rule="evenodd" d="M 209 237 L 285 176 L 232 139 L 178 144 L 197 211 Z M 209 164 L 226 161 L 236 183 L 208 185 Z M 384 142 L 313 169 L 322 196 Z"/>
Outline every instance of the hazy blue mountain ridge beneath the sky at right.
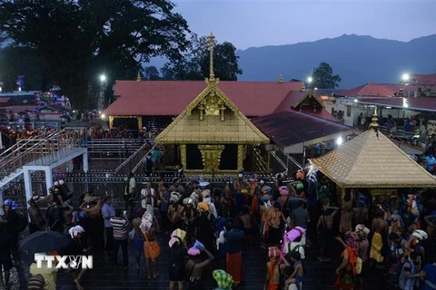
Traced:
<path fill-rule="evenodd" d="M 313 68 L 325 62 L 342 77 L 341 89 L 367 82 L 399 82 L 402 73 L 436 73 L 431 47 L 436 34 L 409 42 L 342 34 L 314 42 L 250 47 L 238 50 L 243 75 L 240 81 L 305 80 Z"/>

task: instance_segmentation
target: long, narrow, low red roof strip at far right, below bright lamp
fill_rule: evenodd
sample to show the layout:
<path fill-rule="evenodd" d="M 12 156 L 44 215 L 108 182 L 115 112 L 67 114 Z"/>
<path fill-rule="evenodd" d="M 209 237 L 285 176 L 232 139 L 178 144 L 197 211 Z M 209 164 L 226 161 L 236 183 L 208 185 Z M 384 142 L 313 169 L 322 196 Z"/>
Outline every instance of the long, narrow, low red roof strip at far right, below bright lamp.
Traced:
<path fill-rule="evenodd" d="M 436 98 L 405 98 L 408 102 L 409 110 L 416 111 L 436 111 Z M 404 98 L 361 98 L 359 103 L 377 104 L 392 108 L 403 108 Z"/>

